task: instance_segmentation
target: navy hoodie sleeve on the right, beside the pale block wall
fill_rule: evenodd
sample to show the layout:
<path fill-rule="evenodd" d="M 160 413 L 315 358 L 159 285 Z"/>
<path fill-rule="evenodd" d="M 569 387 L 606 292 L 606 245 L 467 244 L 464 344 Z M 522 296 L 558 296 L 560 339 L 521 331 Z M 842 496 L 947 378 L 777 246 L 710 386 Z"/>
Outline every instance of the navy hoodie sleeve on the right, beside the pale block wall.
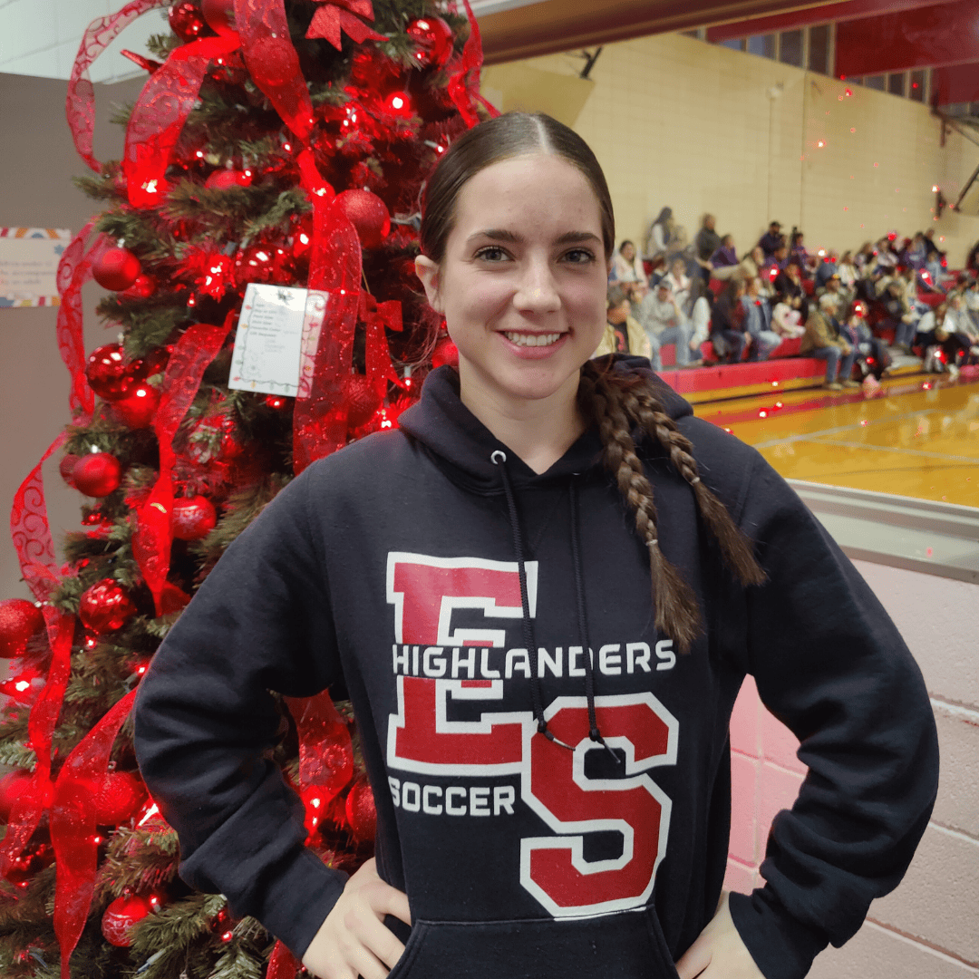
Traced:
<path fill-rule="evenodd" d="M 756 458 L 741 526 L 769 582 L 747 592 L 746 662 L 809 773 L 775 817 L 766 886 L 731 895 L 734 924 L 767 979 L 802 979 L 827 943 L 893 890 L 927 825 L 938 741 L 921 674 L 849 559 Z"/>

